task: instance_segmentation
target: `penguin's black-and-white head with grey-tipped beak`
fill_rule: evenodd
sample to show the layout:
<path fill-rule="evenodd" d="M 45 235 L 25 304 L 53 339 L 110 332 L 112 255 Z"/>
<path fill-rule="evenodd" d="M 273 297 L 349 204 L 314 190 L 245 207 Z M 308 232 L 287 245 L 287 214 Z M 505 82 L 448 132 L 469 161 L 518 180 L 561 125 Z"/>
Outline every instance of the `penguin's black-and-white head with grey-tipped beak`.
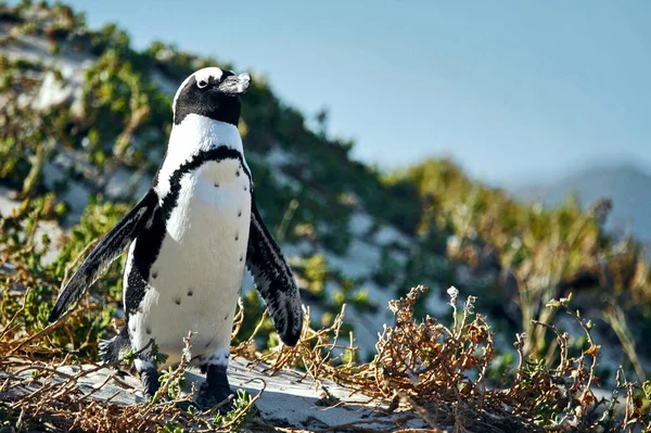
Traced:
<path fill-rule="evenodd" d="M 174 97 L 174 124 L 180 125 L 189 114 L 238 126 L 240 94 L 251 85 L 251 75 L 204 67 L 190 75 Z"/>

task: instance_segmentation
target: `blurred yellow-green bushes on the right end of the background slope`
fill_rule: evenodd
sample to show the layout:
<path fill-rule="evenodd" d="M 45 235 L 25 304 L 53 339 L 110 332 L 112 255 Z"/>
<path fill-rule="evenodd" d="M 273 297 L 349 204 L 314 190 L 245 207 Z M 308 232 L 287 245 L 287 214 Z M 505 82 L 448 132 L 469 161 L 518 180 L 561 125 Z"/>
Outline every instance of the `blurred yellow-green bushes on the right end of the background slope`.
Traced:
<path fill-rule="evenodd" d="M 522 204 L 503 191 L 469 180 L 450 161 L 426 161 L 394 174 L 388 181 L 394 179 L 409 179 L 419 191 L 424 209 L 420 233 L 449 230 L 455 234 L 456 245 L 448 245 L 450 259 L 478 270 L 497 266 L 510 272 L 514 293 L 506 291 L 506 283 L 495 290 L 514 296 L 523 330 L 535 336 L 529 343 L 535 346 L 527 345 L 525 353 L 542 356 L 549 344 L 556 344 L 545 340 L 544 330 L 534 329 L 532 320 L 550 323 L 554 313 L 545 305 L 573 288 L 586 301 L 591 297 L 588 307 L 596 317 L 614 305 L 623 306 L 630 318 L 649 317 L 651 280 L 646 251 L 635 240 L 617 240 L 603 231 L 610 201 L 604 199 L 587 211 L 580 209 L 575 198 L 557 208 Z M 476 289 L 471 293 L 480 293 Z M 503 302 L 502 296 L 496 302 Z M 638 338 L 646 331 L 643 320 L 631 328 L 638 330 Z"/>

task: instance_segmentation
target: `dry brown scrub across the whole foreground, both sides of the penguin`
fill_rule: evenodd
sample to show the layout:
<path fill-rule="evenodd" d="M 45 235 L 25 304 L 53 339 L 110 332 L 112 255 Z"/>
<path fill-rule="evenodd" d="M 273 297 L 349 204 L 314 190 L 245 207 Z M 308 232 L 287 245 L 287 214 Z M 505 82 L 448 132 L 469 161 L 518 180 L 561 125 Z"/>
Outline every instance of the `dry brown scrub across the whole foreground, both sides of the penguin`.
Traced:
<path fill-rule="evenodd" d="M 384 327 L 376 355 L 367 364 L 356 364 L 353 360 L 356 347 L 340 343 L 345 307 L 331 327 L 320 330 L 310 328 L 309 309 L 306 309 L 305 327 L 295 347 L 257 352 L 254 338 L 258 326 L 254 334 L 232 352 L 252 365 L 264 364 L 269 374 L 299 368 L 305 378 L 314 382 L 333 380 L 347 386 L 352 394 L 385 402 L 387 416 L 394 410 L 411 410 L 431 431 L 446 428 L 457 432 L 651 429 L 648 384 L 627 382 L 620 372 L 613 399 L 596 398 L 592 390 L 598 384 L 595 367 L 600 347 L 591 339 L 590 323 L 569 307 L 569 300 L 553 302 L 549 307 L 564 310 L 574 318 L 584 330 L 589 347 L 572 356 L 570 335 L 553 326 L 539 323 L 557 338 L 558 364 L 552 367 L 526 359 L 524 335 L 518 335 L 514 345 L 521 355 L 520 362 L 512 375 L 495 382 L 487 378 L 496 354 L 493 332 L 485 318 L 473 311 L 474 298 L 470 296 L 457 310 L 458 292 L 451 288 L 448 293 L 455 320 L 446 327 L 432 317 L 414 318 L 413 305 L 425 291 L 424 286 L 414 288 L 404 298 L 390 304 L 395 323 Z M 244 321 L 242 306 L 240 304 L 233 336 Z M 58 324 L 18 335 L 12 330 L 17 329 L 21 313 L 7 320 L 0 332 L 0 372 L 4 374 L 0 382 L 0 394 L 4 396 L 0 410 L 1 417 L 9 420 L 5 424 L 11 422 L 15 431 L 232 431 L 248 418 L 248 409 L 260 395 L 221 424 L 213 422 L 214 412 L 197 416 L 176 408 L 178 400 L 126 407 L 94 400 L 92 393 L 84 394 L 77 389 L 77 382 L 104 366 L 79 359 L 94 368 L 74 374 L 58 371 L 71 364 L 69 355 L 50 348 L 48 343 Z M 265 317 L 260 323 L 263 320 Z M 352 335 L 348 336 L 348 341 L 353 341 Z M 190 335 L 187 344 L 191 344 Z M 161 390 L 163 396 L 183 369 L 181 365 L 173 372 Z M 120 382 L 119 378 L 113 379 Z M 624 410 L 616 410 L 617 398 Z M 247 425 L 256 431 L 298 431 L 269 425 L 259 419 Z M 370 431 L 365 422 L 339 429 Z M 393 430 L 400 431 L 397 425 Z"/>

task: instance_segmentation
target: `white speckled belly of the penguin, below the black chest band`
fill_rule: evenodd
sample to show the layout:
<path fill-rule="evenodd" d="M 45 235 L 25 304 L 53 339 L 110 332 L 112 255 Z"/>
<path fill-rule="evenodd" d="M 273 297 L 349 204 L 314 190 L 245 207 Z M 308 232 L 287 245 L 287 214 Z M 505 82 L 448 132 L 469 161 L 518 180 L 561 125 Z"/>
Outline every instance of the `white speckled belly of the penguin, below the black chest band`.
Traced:
<path fill-rule="evenodd" d="M 189 331 L 193 358 L 230 345 L 250 221 L 250 181 L 239 161 L 208 162 L 181 179 L 141 313 L 129 318 L 135 349 L 153 338 L 166 364 L 176 364 Z"/>

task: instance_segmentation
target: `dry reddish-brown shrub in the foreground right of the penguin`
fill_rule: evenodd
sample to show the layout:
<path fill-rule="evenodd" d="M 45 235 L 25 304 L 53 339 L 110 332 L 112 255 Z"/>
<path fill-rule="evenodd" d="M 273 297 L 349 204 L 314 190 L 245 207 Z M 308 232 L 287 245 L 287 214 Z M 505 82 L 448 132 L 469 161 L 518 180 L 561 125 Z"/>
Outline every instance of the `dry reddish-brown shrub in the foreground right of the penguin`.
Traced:
<path fill-rule="evenodd" d="M 547 366 L 526 359 L 525 336 L 519 334 L 514 346 L 520 362 L 512 375 L 490 381 L 487 370 L 496 355 L 493 332 L 485 318 L 473 311 L 474 297 L 469 296 L 457 310 L 456 289 L 448 293 L 456 318 L 446 327 L 432 317 L 417 320 L 413 305 L 426 291 L 412 289 L 393 301 L 395 324 L 384 327 L 370 362 L 356 365 L 342 361 L 355 347 L 337 343 L 343 320 L 320 331 L 304 329 L 301 343 L 261 355 L 247 351 L 247 344 L 235 351 L 254 355 L 270 365 L 271 371 L 301 366 L 314 380 L 328 378 L 348 386 L 369 399 L 391 402 L 392 409 L 412 410 L 433 431 L 443 428 L 458 432 L 502 431 L 578 431 L 620 432 L 651 429 L 649 403 L 651 386 L 627 382 L 620 371 L 617 389 L 611 399 L 597 399 L 599 385 L 595 375 L 600 346 L 590 334 L 591 323 L 570 308 L 569 298 L 552 301 L 548 308 L 569 314 L 584 331 L 588 347 L 572 355 L 570 335 L 551 324 L 536 322 L 552 332 L 558 343 L 558 361 Z M 339 355 L 333 355 L 339 353 Z M 620 398 L 620 394 L 624 394 Z M 617 411 L 617 404 L 625 410 Z M 359 426 L 361 430 L 362 426 Z M 646 429 L 646 430 L 644 430 Z"/>

